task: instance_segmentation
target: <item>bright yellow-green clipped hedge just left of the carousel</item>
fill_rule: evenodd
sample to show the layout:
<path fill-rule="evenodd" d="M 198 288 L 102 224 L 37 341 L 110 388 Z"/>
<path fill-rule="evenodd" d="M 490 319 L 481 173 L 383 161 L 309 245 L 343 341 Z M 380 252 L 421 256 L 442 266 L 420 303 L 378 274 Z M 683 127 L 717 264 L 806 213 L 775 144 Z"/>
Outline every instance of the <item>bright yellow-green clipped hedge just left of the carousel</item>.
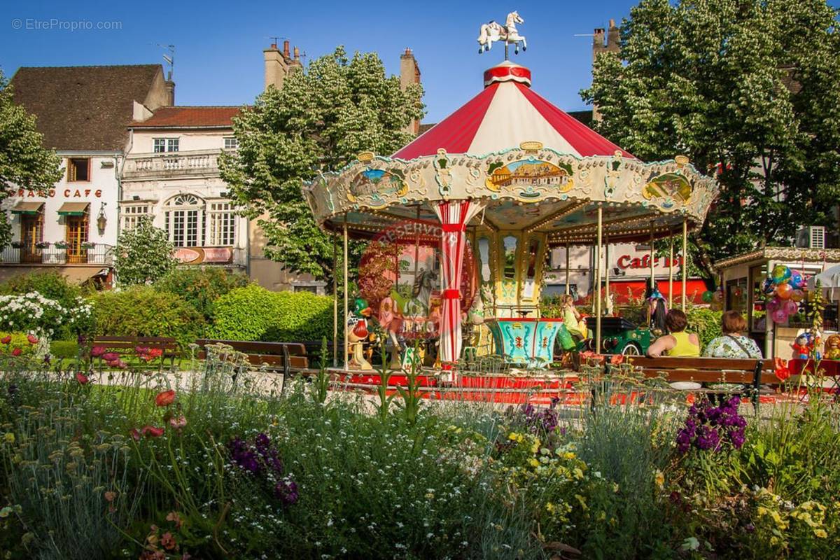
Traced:
<path fill-rule="evenodd" d="M 333 336 L 333 299 L 307 291 L 274 292 L 252 284 L 220 297 L 210 336 L 224 340 L 295 342 Z"/>

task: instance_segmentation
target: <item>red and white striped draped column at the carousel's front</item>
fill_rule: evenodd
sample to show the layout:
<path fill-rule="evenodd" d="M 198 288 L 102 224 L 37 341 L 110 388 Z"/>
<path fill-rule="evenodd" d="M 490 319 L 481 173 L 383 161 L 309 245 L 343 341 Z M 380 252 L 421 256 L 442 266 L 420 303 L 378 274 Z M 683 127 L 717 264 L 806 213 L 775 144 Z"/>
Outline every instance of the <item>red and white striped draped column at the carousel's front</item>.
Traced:
<path fill-rule="evenodd" d="M 440 238 L 441 290 L 444 301 L 440 321 L 440 361 L 444 368 L 461 353 L 461 269 L 464 264 L 466 225 L 481 211 L 476 201 L 441 202 L 434 212 L 443 224 Z"/>

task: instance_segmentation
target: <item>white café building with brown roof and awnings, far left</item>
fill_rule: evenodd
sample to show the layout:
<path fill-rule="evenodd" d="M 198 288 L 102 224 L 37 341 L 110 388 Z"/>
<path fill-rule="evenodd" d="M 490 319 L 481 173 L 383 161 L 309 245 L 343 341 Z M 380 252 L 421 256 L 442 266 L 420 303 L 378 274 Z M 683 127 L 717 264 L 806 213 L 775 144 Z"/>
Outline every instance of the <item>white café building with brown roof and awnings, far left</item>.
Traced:
<path fill-rule="evenodd" d="M 109 285 L 118 235 L 120 171 L 135 113 L 171 103 L 174 84 L 160 65 L 23 67 L 11 81 L 15 102 L 36 116 L 62 177 L 42 191 L 3 201 L 12 244 L 0 280 L 45 267 L 71 280 Z"/>

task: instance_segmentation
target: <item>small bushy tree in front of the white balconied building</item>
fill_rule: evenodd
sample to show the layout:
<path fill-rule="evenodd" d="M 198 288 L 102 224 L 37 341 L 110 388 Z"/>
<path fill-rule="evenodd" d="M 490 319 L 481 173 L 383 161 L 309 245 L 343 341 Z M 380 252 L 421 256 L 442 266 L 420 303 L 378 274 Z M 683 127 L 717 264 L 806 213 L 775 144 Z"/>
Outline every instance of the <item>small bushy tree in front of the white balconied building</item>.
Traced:
<path fill-rule="evenodd" d="M 121 285 L 151 284 L 173 270 L 178 261 L 166 232 L 146 217 L 117 239 L 113 268 Z"/>

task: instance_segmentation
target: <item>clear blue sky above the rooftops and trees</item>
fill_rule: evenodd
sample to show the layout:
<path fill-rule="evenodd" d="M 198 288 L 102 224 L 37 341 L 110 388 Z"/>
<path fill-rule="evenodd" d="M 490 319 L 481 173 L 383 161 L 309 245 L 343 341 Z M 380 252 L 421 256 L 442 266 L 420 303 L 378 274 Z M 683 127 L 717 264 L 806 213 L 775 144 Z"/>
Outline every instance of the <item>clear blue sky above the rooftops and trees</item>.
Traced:
<path fill-rule="evenodd" d="M 536 91 L 571 111 L 585 108 L 578 92 L 591 80 L 592 39 L 575 34 L 606 27 L 609 18 L 620 22 L 633 4 L 7 1 L 0 6 L 0 68 L 11 76 L 22 65 L 158 63 L 164 50 L 156 44 L 175 44 L 177 104 L 241 105 L 262 89 L 262 50 L 270 36 L 288 38 L 310 59 L 337 44 L 349 52 L 375 51 L 389 73 L 399 71 L 399 55 L 411 47 L 426 88 L 423 121 L 437 122 L 478 93 L 482 72 L 502 59 L 501 48 L 478 55 L 479 25 L 503 22 L 516 9 L 529 49 L 512 59 L 531 68 Z M 94 27 L 115 21 L 122 29 L 71 31 L 55 29 L 50 20 Z M 48 29 L 34 29 L 37 22 Z"/>

